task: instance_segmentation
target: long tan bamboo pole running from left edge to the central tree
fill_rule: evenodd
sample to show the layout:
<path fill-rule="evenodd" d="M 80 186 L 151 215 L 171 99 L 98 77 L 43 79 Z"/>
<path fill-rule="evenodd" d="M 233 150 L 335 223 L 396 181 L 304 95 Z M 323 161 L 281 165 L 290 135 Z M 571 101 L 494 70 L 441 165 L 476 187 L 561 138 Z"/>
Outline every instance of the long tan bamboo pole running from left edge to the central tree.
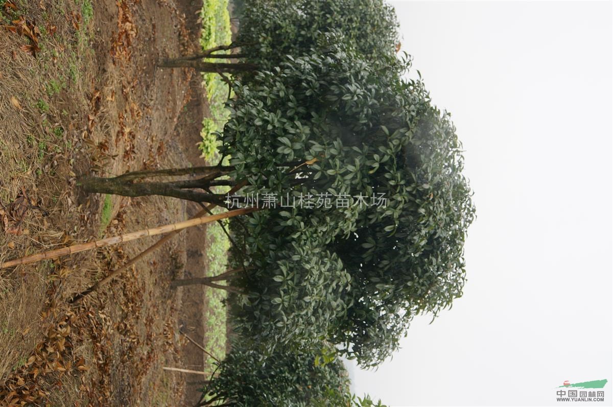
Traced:
<path fill-rule="evenodd" d="M 50 251 L 45 251 L 43 253 L 32 254 L 31 256 L 21 257 L 20 259 L 15 259 L 12 261 L 8 261 L 0 265 L 0 268 L 9 268 L 15 267 L 16 265 L 36 263 L 42 260 L 55 259 L 60 256 L 67 256 L 69 254 L 78 253 L 81 251 L 91 250 L 99 247 L 116 245 L 117 243 L 129 242 L 130 240 L 140 239 L 146 236 L 154 236 L 161 235 L 168 232 L 173 232 L 175 230 L 186 229 L 187 227 L 196 226 L 205 223 L 211 223 L 218 221 L 219 219 L 233 218 L 238 215 L 245 215 L 246 213 L 251 213 L 257 210 L 256 208 L 243 208 L 237 209 L 233 211 L 228 211 L 225 213 L 219 213 L 218 215 L 212 216 L 203 216 L 202 218 L 190 219 L 189 221 L 183 221 L 178 223 L 173 223 L 164 226 L 153 227 L 151 229 L 143 229 L 138 230 L 137 232 L 131 232 L 125 235 L 107 237 L 101 240 L 96 240 L 96 242 L 83 243 L 81 245 L 68 246 L 61 249 L 55 249 Z"/>

